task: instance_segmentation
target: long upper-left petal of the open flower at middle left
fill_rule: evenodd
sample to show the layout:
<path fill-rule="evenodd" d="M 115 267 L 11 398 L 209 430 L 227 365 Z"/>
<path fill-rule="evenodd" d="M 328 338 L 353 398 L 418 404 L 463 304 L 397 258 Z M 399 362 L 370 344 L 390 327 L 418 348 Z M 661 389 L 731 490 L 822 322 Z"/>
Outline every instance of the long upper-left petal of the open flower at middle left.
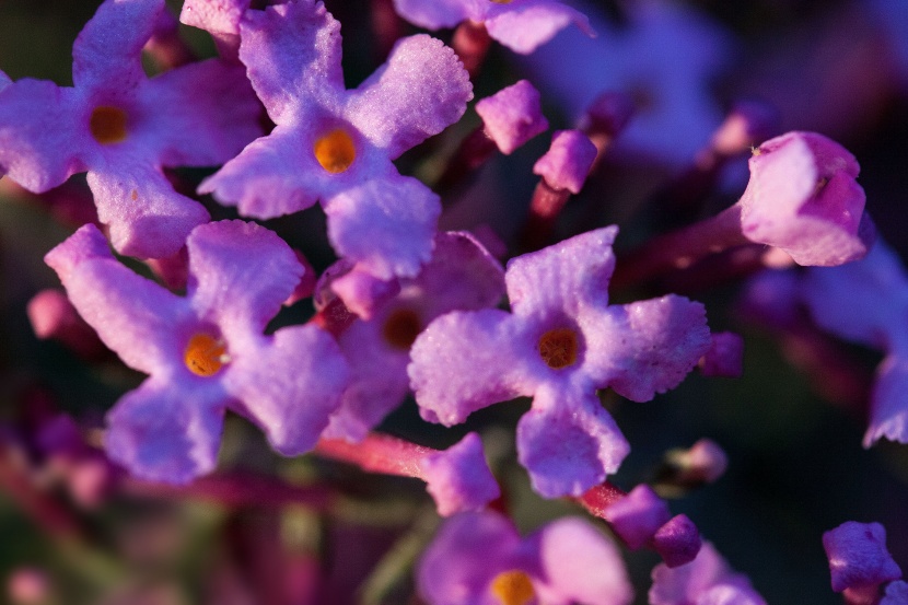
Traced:
<path fill-rule="evenodd" d="M 96 226 L 81 228 L 45 261 L 82 318 L 124 363 L 147 374 L 182 364 L 179 328 L 197 323 L 189 304 L 117 261 Z"/>

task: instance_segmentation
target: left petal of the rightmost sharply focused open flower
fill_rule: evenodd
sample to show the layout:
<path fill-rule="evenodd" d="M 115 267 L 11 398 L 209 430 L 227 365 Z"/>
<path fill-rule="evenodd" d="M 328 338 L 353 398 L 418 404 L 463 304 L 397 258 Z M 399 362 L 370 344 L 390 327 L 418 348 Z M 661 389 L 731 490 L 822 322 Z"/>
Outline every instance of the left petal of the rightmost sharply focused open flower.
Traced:
<path fill-rule="evenodd" d="M 420 414 L 450 427 L 484 407 L 533 393 L 521 350 L 533 344 L 498 310 L 453 312 L 423 330 L 407 372 Z"/>

